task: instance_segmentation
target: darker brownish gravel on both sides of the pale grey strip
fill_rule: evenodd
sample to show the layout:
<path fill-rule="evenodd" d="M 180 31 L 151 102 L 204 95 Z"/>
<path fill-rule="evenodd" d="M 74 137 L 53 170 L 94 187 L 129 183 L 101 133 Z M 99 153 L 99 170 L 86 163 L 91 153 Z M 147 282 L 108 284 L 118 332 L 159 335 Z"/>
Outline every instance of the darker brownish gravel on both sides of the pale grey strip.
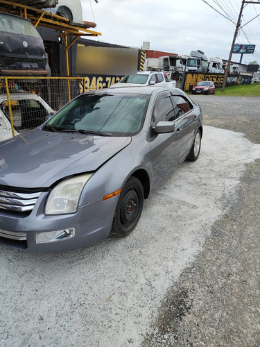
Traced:
<path fill-rule="evenodd" d="M 192 96 L 204 124 L 260 143 L 259 97 Z M 142 346 L 260 346 L 260 160 L 248 164 L 203 251 L 168 290 Z"/>

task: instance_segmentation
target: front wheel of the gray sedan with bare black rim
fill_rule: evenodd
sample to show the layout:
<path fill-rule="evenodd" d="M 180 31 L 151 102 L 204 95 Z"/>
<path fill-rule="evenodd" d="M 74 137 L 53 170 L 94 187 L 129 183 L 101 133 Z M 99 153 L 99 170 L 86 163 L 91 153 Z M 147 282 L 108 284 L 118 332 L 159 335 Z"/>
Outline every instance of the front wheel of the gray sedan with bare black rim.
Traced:
<path fill-rule="evenodd" d="M 110 234 L 116 237 L 130 235 L 141 217 L 143 205 L 143 186 L 136 177 L 131 176 L 120 193 Z"/>

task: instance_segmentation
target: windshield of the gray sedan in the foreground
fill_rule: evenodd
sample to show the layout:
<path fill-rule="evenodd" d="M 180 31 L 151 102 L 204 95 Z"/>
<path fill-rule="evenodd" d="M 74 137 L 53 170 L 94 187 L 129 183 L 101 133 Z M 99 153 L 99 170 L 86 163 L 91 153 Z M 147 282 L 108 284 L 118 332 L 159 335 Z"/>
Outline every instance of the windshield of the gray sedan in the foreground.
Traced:
<path fill-rule="evenodd" d="M 146 94 L 83 94 L 57 112 L 44 130 L 135 135 L 143 124 L 147 103 Z"/>

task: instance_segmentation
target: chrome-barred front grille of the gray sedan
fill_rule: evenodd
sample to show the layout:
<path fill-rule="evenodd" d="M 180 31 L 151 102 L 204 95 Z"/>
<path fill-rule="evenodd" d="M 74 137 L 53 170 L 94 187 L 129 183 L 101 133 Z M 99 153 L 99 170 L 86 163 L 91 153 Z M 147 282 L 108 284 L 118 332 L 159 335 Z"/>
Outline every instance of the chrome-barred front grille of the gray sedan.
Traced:
<path fill-rule="evenodd" d="M 13 212 L 28 212 L 39 198 L 41 192 L 22 193 L 0 189 L 0 209 Z"/>

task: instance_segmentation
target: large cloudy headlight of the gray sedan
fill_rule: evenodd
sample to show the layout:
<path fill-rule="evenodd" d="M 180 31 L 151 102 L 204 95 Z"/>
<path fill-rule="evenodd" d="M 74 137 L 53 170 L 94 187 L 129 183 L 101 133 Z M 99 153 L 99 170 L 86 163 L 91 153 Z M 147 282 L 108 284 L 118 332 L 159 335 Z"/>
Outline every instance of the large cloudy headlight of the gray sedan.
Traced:
<path fill-rule="evenodd" d="M 45 206 L 45 214 L 67 214 L 78 210 L 80 195 L 92 174 L 63 180 L 53 188 Z"/>

